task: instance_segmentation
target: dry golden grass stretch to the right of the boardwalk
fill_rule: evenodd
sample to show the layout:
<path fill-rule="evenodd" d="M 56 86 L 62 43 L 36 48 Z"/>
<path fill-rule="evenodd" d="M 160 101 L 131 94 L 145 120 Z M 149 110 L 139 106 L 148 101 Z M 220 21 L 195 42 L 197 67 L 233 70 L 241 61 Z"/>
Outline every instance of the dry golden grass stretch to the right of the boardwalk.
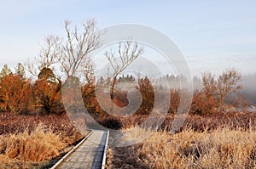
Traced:
<path fill-rule="evenodd" d="M 109 149 L 108 168 L 256 168 L 256 132 L 229 127 L 154 132 L 142 144 Z"/>

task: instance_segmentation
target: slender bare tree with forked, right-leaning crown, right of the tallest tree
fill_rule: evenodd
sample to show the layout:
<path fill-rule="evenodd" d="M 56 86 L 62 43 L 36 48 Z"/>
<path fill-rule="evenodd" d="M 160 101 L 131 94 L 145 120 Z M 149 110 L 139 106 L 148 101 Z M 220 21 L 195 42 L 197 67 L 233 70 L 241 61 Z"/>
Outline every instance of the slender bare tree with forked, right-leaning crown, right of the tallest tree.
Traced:
<path fill-rule="evenodd" d="M 117 81 L 119 74 L 125 70 L 128 65 L 141 56 L 144 52 L 144 48 L 140 46 L 137 42 L 124 41 L 119 42 L 118 54 L 113 51 L 107 51 L 104 55 L 108 59 L 110 65 L 113 68 L 113 80 L 111 82 L 110 97 L 113 99 L 113 88 Z"/>

